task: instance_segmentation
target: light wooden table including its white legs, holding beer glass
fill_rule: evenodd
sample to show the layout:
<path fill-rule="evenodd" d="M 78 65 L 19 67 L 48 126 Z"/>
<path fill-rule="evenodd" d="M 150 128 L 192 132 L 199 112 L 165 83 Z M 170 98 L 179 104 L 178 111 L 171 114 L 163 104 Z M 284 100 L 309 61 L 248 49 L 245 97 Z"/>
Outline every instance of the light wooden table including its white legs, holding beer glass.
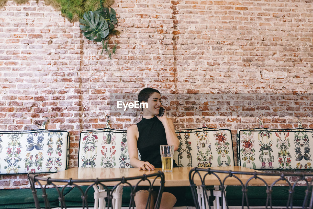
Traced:
<path fill-rule="evenodd" d="M 192 168 L 190 167 L 182 167 L 182 168 L 173 168 L 173 172 L 171 173 L 164 173 L 165 176 L 165 186 L 189 186 L 189 171 Z M 243 172 L 255 172 L 254 169 L 249 169 L 241 166 L 230 166 L 230 167 L 211 167 L 211 169 L 214 170 L 232 170 L 232 171 L 243 171 Z M 143 171 L 139 170 L 138 168 L 71 168 L 68 170 L 64 170 L 58 173 L 49 174 L 47 176 L 44 176 L 46 178 L 50 177 L 52 179 L 69 179 L 72 178 L 73 180 L 84 180 L 84 179 L 109 179 L 109 178 L 121 178 L 121 177 L 134 177 L 134 176 L 141 176 L 143 174 L 153 174 L 158 172 L 159 170 L 162 171 L 162 168 L 156 168 L 154 171 Z M 259 172 L 259 171 L 258 171 Z M 207 172 L 203 172 L 205 174 Z M 223 179 L 228 174 L 218 174 L 220 179 L 223 181 Z M 244 183 L 251 177 L 251 175 L 236 175 L 239 177 L 240 180 L 242 180 Z M 273 181 L 277 179 L 277 176 L 262 176 L 262 178 L 269 184 L 271 184 Z M 130 181 L 132 185 L 136 185 L 138 180 L 134 180 L 133 182 Z M 118 182 L 110 182 L 107 185 L 116 185 Z M 194 183 L 196 185 L 201 185 L 201 181 L 199 177 L 195 177 Z M 280 182 L 279 182 L 280 183 Z M 285 182 L 281 182 L 285 183 Z M 220 185 L 217 177 L 214 175 L 207 175 L 206 185 Z M 64 183 L 60 183 L 59 185 L 64 185 Z M 90 185 L 90 183 L 80 183 L 79 185 Z M 140 185 L 148 185 L 147 181 L 143 181 Z M 160 185 L 160 181 L 157 181 L 154 183 L 154 185 Z M 240 182 L 235 179 L 234 177 L 228 178 L 225 181 L 225 185 L 240 185 Z M 251 180 L 249 182 L 249 185 L 264 185 L 264 183 L 260 180 Z M 199 187 L 199 186 L 198 186 Z M 218 186 L 214 186 L 214 196 L 217 196 L 214 201 L 214 208 L 219 208 L 219 198 L 218 196 L 221 195 L 221 192 L 218 189 Z M 106 191 L 103 190 L 103 187 L 97 188 L 94 186 L 95 189 L 95 209 L 102 208 L 103 205 L 105 205 L 104 202 L 104 196 L 106 196 Z M 119 186 L 116 189 L 116 193 L 122 194 L 122 186 Z M 204 202 L 203 202 L 203 193 L 201 189 L 198 189 L 198 201 L 199 203 L 202 202 L 202 207 L 204 208 Z M 223 208 L 226 208 L 225 201 L 223 201 Z M 120 197 L 117 197 L 117 199 L 114 202 L 115 209 L 121 208 L 121 195 Z M 200 204 L 201 205 L 201 204 Z"/>

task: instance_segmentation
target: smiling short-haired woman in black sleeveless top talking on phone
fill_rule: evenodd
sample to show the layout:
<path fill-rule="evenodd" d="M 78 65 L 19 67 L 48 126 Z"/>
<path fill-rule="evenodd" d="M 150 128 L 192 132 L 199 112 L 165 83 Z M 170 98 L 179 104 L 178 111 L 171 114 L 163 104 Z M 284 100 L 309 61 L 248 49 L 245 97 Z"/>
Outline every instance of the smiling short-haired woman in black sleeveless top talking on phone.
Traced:
<path fill-rule="evenodd" d="M 140 110 L 142 120 L 127 129 L 127 146 L 131 165 L 139 170 L 162 168 L 160 145 L 173 145 L 174 151 L 179 145 L 173 122 L 166 117 L 166 110 L 162 117 L 157 116 L 162 107 L 161 94 L 158 90 L 144 88 L 139 92 L 138 100 L 148 103 L 148 107 Z M 138 159 L 137 149 L 141 154 L 141 160 Z M 173 162 L 173 167 L 177 167 L 175 162 Z M 170 209 L 174 206 L 176 197 L 172 194 L 172 190 L 171 187 L 164 188 L 160 208 Z M 148 194 L 147 190 L 136 192 L 137 209 L 145 208 Z M 151 203 L 153 203 L 152 200 Z M 154 204 L 151 204 L 151 208 L 153 207 Z"/>

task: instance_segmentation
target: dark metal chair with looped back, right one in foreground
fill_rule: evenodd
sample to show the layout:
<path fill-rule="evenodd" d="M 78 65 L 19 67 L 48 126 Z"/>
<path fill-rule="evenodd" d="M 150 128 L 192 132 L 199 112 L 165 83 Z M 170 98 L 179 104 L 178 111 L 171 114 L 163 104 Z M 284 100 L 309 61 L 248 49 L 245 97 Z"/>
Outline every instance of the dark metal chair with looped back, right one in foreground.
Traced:
<path fill-rule="evenodd" d="M 262 191 L 264 189 L 264 194 L 266 196 L 266 200 L 258 205 L 261 207 L 273 208 L 272 199 L 277 199 L 276 197 L 280 195 L 280 186 L 285 185 L 288 188 L 287 196 L 283 201 L 284 203 L 279 203 L 280 208 L 293 208 L 294 199 L 297 198 L 297 202 L 300 202 L 302 208 L 310 208 L 312 209 L 313 203 L 313 173 L 263 173 L 263 172 L 243 172 L 243 171 L 223 171 L 223 170 L 213 170 L 213 169 L 201 169 L 194 168 L 189 172 L 189 182 L 192 190 L 192 197 L 196 206 L 196 209 L 205 208 L 211 209 L 211 205 L 208 199 L 210 194 L 207 193 L 206 186 L 207 185 L 216 185 L 219 182 L 219 189 L 221 190 L 221 205 L 222 208 L 229 208 L 230 204 L 234 202 L 231 195 L 226 196 L 226 186 L 227 185 L 238 185 L 236 187 L 236 192 L 238 199 L 235 201 L 241 203 L 241 208 L 250 208 L 251 205 L 256 204 L 256 200 L 251 199 L 251 194 L 255 196 L 261 196 Z M 197 195 L 197 185 L 200 185 L 200 189 L 204 194 L 203 201 L 199 201 Z M 255 186 L 257 185 L 257 187 Z M 303 186 L 304 189 L 302 189 Z M 257 189 L 252 189 L 252 187 Z M 299 193 L 299 189 L 300 193 Z M 278 192 L 279 191 L 279 192 Z M 296 191 L 296 193 L 295 193 Z M 199 191 L 198 191 L 199 192 Z M 238 194 L 239 193 L 239 194 Z M 279 194 L 277 194 L 279 193 Z M 294 196 L 294 194 L 296 194 Z M 264 197 L 265 197 L 264 196 Z M 300 200 L 299 200 L 300 198 Z M 219 199 L 217 197 L 217 199 Z M 224 201 L 224 202 L 223 202 Z M 276 200 L 275 200 L 276 201 Z M 229 204 L 230 203 L 230 204 Z M 259 203 L 259 200 L 258 202 Z M 223 206 L 224 205 L 224 206 Z M 218 204 L 219 209 L 219 204 Z"/>

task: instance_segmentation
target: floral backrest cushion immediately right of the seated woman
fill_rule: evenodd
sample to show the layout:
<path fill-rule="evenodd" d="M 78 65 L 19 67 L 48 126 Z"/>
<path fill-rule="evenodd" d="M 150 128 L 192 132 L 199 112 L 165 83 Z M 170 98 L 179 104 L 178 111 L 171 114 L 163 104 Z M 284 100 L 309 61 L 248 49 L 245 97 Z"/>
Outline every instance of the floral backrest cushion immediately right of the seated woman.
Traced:
<path fill-rule="evenodd" d="M 198 128 L 175 132 L 179 148 L 174 160 L 179 167 L 234 166 L 230 130 Z"/>

